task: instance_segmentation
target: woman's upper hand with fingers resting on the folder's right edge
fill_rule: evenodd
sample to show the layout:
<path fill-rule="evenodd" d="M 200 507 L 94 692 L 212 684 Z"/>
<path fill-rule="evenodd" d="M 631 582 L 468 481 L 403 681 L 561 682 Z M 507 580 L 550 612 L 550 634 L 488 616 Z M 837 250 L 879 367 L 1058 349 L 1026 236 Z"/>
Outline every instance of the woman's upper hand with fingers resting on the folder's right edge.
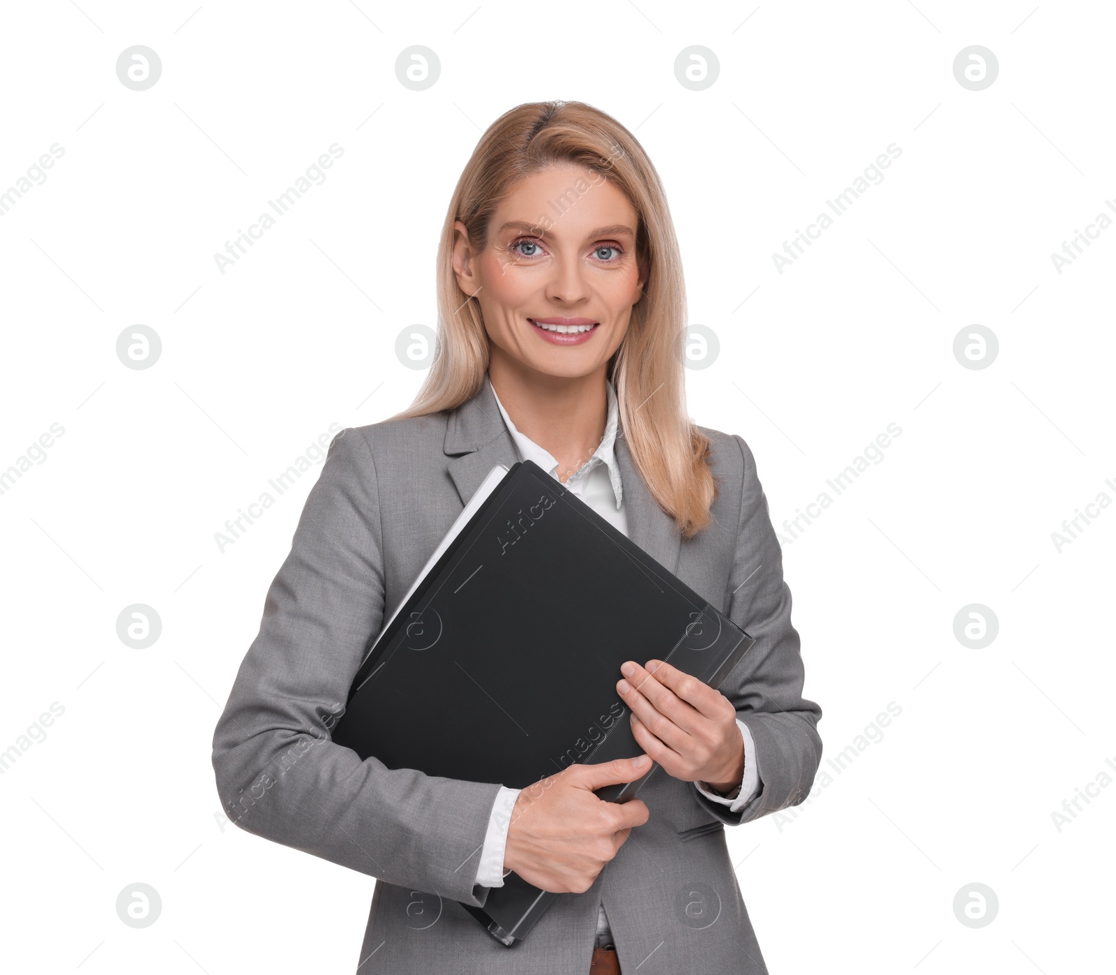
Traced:
<path fill-rule="evenodd" d="M 719 690 L 662 660 L 628 660 L 616 689 L 632 710 L 636 743 L 667 775 L 716 792 L 740 785 L 744 740 L 737 710 Z"/>

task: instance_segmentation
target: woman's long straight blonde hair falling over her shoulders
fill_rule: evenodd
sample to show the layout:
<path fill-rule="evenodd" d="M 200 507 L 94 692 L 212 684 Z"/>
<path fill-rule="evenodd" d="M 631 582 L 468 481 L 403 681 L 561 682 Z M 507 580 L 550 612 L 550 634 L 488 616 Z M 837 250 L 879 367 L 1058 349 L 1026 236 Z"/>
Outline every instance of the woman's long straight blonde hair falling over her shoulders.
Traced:
<path fill-rule="evenodd" d="M 481 136 L 446 211 L 437 249 L 439 327 L 434 361 L 414 402 L 391 419 L 452 410 L 484 382 L 489 340 L 475 297 L 453 273 L 453 223 L 477 250 L 489 220 L 522 179 L 576 163 L 613 183 L 638 214 L 636 260 L 646 274 L 624 341 L 608 362 L 619 428 L 652 497 L 685 538 L 709 527 L 718 486 L 710 441 L 685 409 L 686 304 L 674 224 L 658 174 L 619 122 L 583 102 L 531 102 L 506 112 Z"/>

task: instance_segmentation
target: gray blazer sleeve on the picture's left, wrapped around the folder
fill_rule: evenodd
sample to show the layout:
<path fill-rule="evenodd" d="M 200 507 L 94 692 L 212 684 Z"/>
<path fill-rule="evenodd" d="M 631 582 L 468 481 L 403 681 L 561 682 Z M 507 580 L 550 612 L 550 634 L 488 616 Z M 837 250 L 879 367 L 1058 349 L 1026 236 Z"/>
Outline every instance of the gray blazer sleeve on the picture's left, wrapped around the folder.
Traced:
<path fill-rule="evenodd" d="M 362 762 L 329 736 L 384 620 L 379 519 L 372 449 L 347 428 L 330 443 L 218 721 L 218 792 L 249 833 L 483 907 L 488 888 L 474 879 L 500 784 Z"/>

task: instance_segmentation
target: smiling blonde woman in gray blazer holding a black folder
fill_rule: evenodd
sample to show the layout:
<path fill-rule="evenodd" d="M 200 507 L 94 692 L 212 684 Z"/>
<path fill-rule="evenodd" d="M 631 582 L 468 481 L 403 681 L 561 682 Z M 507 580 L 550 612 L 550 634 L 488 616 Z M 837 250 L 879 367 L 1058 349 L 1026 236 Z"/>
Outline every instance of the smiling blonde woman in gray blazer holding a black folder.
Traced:
<path fill-rule="evenodd" d="M 334 440 L 213 740 L 249 832 L 376 877 L 360 973 L 761 973 L 723 825 L 800 803 L 821 755 L 779 544 L 748 445 L 685 413 L 685 300 L 643 149 L 588 105 L 488 130 L 439 249 L 439 342 L 415 403 Z M 530 458 L 756 638 L 720 690 L 617 675 L 661 766 L 518 792 L 388 770 L 329 740 L 369 641 L 483 477 Z M 540 585 L 606 585 L 583 577 Z M 571 605 L 574 600 L 571 599 Z M 416 716 L 416 719 L 421 719 Z M 629 841 L 631 842 L 627 842 Z M 566 896 L 512 948 L 461 904 L 514 870 Z"/>

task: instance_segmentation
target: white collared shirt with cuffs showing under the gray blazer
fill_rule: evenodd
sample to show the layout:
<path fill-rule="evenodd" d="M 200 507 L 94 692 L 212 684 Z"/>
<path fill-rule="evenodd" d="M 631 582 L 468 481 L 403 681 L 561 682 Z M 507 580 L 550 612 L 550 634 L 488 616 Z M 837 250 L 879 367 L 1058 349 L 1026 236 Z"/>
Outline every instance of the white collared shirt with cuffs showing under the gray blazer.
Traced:
<path fill-rule="evenodd" d="M 491 382 L 489 383 L 491 386 Z M 627 530 L 627 513 L 624 508 L 624 490 L 620 484 L 619 465 L 616 462 L 614 446 L 616 443 L 616 430 L 619 421 L 619 409 L 616 401 L 616 390 L 610 382 L 606 382 L 606 393 L 608 396 L 608 418 L 605 421 L 605 436 L 600 440 L 593 457 L 590 457 L 578 470 L 565 482 L 567 490 L 573 491 L 583 501 L 589 505 L 598 515 L 610 522 L 625 537 Z M 500 398 L 492 389 L 497 405 L 500 408 L 500 415 L 511 433 L 511 439 L 516 442 L 516 452 L 520 460 L 532 460 L 547 474 L 558 480 L 558 461 L 543 450 L 533 440 L 528 439 L 516 429 L 511 422 L 508 411 L 500 402 Z M 617 677 L 617 680 L 619 678 Z M 752 742 L 751 732 L 748 726 L 737 719 L 737 726 L 744 740 L 744 775 L 740 784 L 740 792 L 735 797 L 715 795 L 703 788 L 696 782 L 694 787 L 712 802 L 719 802 L 729 806 L 731 812 L 742 809 L 752 796 L 759 791 L 759 774 L 756 770 L 756 745 Z M 508 842 L 508 826 L 511 820 L 511 811 L 516 805 L 520 790 L 500 786 L 496 802 L 492 804 L 492 813 L 489 818 L 488 832 L 484 835 L 484 845 L 481 849 L 481 861 L 477 870 L 475 883 L 483 887 L 503 887 L 503 857 Z M 510 872 L 510 871 L 508 871 Z M 605 916 L 604 906 L 597 910 L 597 944 L 600 946 L 612 943 L 608 919 Z"/>

